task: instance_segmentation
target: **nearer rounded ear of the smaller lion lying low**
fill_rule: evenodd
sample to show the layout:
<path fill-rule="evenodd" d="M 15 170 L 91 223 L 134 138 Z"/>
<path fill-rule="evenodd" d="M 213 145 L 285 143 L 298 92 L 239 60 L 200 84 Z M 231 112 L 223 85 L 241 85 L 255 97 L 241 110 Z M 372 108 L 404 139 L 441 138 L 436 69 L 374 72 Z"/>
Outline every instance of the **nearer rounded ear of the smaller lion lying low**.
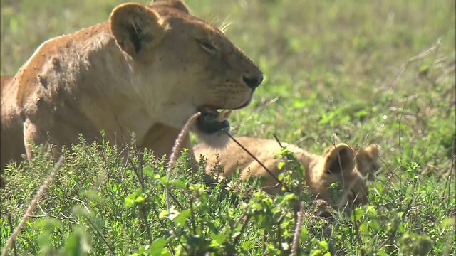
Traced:
<path fill-rule="evenodd" d="M 337 144 L 326 149 L 325 158 L 326 174 L 341 174 L 344 170 L 355 168 L 355 153 L 347 144 Z"/>

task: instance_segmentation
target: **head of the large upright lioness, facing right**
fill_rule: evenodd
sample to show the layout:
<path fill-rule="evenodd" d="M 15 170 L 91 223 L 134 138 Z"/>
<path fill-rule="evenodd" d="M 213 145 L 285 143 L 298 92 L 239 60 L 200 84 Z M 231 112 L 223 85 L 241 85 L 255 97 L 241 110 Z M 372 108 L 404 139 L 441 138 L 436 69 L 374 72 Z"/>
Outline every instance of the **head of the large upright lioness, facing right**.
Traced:
<path fill-rule="evenodd" d="M 227 142 L 225 110 L 249 105 L 263 74 L 219 28 L 180 0 L 154 0 L 117 6 L 110 30 L 130 61 L 132 90 L 152 119 L 181 129 L 201 112 L 193 131 L 213 146 Z"/>

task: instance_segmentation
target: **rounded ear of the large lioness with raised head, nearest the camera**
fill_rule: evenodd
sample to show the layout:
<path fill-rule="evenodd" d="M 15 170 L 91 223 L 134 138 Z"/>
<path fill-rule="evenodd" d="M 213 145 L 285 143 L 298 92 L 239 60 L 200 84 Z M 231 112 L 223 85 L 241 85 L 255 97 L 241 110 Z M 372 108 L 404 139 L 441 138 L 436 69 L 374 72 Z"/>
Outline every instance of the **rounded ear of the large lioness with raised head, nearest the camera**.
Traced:
<path fill-rule="evenodd" d="M 141 50 L 157 46 L 167 30 L 167 24 L 142 4 L 121 4 L 109 18 L 111 33 L 122 50 L 133 58 Z"/>

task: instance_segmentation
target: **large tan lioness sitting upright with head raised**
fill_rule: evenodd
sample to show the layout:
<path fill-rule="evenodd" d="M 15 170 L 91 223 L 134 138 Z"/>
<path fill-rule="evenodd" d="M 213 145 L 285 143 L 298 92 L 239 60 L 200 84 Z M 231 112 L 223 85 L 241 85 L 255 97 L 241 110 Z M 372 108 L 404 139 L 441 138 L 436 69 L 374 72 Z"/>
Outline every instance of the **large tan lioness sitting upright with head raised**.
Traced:
<path fill-rule="evenodd" d="M 226 111 L 249 105 L 263 75 L 257 65 L 180 0 L 121 4 L 109 20 L 49 39 L 1 78 L 1 169 L 32 158 L 30 142 L 61 146 L 90 141 L 170 152 L 183 125 L 222 146 Z M 214 139 L 214 137 L 216 137 Z M 191 150 L 190 139 L 185 147 Z"/>

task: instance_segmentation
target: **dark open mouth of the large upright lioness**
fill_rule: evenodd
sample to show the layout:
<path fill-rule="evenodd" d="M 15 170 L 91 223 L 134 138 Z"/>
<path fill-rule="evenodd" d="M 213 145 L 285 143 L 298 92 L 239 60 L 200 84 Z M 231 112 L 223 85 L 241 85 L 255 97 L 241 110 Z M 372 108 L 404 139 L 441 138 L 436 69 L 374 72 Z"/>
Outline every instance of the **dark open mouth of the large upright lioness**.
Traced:
<path fill-rule="evenodd" d="M 228 117 L 232 110 L 217 111 L 213 107 L 198 107 L 201 115 L 198 117 L 198 127 L 206 134 L 214 134 L 224 129 L 229 129 Z"/>

